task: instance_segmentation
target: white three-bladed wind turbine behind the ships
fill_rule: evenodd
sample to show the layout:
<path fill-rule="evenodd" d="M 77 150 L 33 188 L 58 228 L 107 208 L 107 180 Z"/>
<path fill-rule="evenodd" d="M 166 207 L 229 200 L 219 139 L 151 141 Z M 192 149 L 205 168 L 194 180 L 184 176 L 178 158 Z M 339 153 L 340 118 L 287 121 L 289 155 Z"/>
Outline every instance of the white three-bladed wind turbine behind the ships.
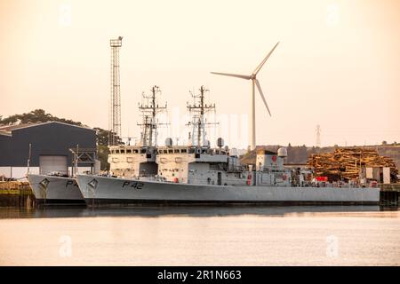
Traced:
<path fill-rule="evenodd" d="M 275 44 L 274 48 L 271 51 L 269 51 L 269 53 L 267 54 L 265 59 L 263 59 L 261 61 L 260 65 L 257 68 L 255 68 L 255 70 L 252 72 L 252 75 L 237 75 L 237 74 L 229 74 L 229 73 L 211 72 L 212 74 L 215 74 L 215 75 L 224 75 L 224 76 L 242 78 L 245 80 L 252 80 L 252 112 L 251 112 L 251 114 L 252 114 L 252 126 L 251 126 L 251 129 L 252 129 L 251 130 L 251 140 L 252 141 L 251 141 L 251 143 L 252 144 L 251 144 L 251 150 L 255 149 L 255 147 L 256 147 L 256 145 L 255 145 L 256 144 L 256 140 L 255 140 L 255 138 L 256 138 L 256 133 L 255 133 L 256 132 L 255 131 L 255 85 L 257 85 L 257 89 L 260 92 L 261 99 L 264 101 L 265 107 L 267 107 L 269 116 L 271 116 L 271 112 L 269 111 L 267 100 L 265 99 L 264 94 L 261 90 L 259 80 L 257 80 L 257 74 L 260 72 L 261 67 L 264 66 L 265 62 L 268 60 L 268 58 L 272 54 L 272 52 L 276 49 L 276 46 L 278 44 L 279 44 L 279 42 Z"/>

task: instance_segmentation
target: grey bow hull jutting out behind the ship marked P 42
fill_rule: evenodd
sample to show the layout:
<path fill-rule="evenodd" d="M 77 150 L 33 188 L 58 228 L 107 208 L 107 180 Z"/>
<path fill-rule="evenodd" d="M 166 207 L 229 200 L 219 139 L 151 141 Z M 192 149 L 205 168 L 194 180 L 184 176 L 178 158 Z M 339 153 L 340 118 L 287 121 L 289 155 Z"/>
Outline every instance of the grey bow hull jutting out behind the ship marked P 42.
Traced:
<path fill-rule="evenodd" d="M 85 204 L 75 178 L 28 175 L 28 182 L 38 204 Z"/>

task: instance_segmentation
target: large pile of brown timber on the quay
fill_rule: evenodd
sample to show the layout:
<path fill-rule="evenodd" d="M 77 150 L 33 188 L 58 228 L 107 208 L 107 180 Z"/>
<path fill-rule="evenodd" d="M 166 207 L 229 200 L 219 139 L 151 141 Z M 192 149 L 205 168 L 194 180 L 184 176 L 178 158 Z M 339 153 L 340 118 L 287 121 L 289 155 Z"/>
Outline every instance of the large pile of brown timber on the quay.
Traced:
<path fill-rule="evenodd" d="M 396 162 L 373 148 L 338 148 L 333 153 L 312 154 L 307 163 L 317 177 L 328 177 L 330 181 L 356 179 L 363 167 L 389 167 L 391 176 L 398 174 Z"/>

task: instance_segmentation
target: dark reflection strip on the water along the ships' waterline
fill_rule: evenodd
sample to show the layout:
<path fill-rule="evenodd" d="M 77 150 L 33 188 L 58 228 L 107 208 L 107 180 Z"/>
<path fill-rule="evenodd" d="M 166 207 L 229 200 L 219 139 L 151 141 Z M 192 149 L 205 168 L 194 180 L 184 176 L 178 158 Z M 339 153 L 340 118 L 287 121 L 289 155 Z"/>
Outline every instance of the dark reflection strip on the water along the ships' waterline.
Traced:
<path fill-rule="evenodd" d="M 358 212 L 379 212 L 378 205 L 371 206 L 137 206 L 134 208 L 109 208 L 89 209 L 82 206 L 56 206 L 46 209 L 14 209 L 0 208 L 2 218 L 59 218 L 59 217 L 160 217 L 160 216 L 185 216 L 185 217 L 223 217 L 251 215 L 260 217 L 285 217 L 301 216 L 307 214 L 318 216 L 325 213 L 356 214 Z M 388 210 L 394 210 L 393 207 Z"/>

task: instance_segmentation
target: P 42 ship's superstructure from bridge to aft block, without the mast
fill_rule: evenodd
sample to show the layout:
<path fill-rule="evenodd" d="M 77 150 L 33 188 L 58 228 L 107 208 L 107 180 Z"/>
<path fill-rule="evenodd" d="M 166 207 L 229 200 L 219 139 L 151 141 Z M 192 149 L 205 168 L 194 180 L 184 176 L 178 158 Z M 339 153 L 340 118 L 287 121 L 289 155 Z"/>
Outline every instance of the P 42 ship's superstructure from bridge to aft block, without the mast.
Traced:
<path fill-rule="evenodd" d="M 163 146 L 157 148 L 158 175 L 166 181 L 192 185 L 276 185 L 289 186 L 291 170 L 284 169 L 284 154 L 260 150 L 258 165 L 244 166 L 228 147 Z"/>

